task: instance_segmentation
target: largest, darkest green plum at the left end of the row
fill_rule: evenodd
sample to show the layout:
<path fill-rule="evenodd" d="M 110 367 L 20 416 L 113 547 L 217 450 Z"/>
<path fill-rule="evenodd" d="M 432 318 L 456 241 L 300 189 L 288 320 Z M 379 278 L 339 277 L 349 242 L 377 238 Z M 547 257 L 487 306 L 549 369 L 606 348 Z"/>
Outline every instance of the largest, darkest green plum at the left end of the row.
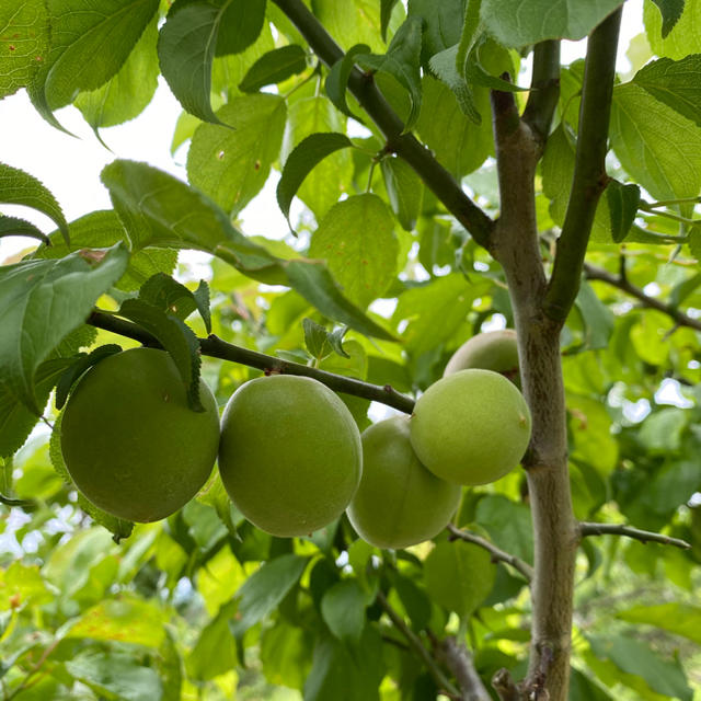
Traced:
<path fill-rule="evenodd" d="M 61 452 L 76 486 L 105 512 L 149 522 L 184 506 L 217 458 L 219 412 L 200 382 L 204 412 L 187 405 L 171 356 L 131 348 L 80 380 L 61 418 Z"/>

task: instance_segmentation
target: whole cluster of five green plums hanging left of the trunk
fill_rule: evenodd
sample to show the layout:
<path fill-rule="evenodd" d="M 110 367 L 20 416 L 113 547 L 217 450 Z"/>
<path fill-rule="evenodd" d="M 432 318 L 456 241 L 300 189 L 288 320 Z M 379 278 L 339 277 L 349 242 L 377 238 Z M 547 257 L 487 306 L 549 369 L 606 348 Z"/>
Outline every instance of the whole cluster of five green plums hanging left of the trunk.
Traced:
<path fill-rule="evenodd" d="M 486 369 L 485 369 L 486 368 Z M 530 415 L 498 371 L 516 369 L 513 332 L 464 344 L 410 417 L 359 434 L 321 382 L 290 375 L 242 384 L 221 422 L 200 381 L 191 411 L 168 353 L 133 348 L 80 380 L 61 420 L 61 450 L 84 496 L 120 518 L 165 518 L 203 486 L 218 458 L 241 513 L 280 537 L 304 536 L 341 516 L 379 548 L 405 548 L 446 527 L 460 485 L 483 484 L 520 460 Z"/>

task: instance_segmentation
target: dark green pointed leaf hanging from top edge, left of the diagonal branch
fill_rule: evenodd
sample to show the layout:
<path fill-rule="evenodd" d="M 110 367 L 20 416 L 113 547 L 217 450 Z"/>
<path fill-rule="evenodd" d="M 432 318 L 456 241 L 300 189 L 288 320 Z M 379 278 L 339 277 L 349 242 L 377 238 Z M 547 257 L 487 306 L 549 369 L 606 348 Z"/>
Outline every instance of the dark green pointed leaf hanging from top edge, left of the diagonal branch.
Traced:
<path fill-rule="evenodd" d="M 181 0 L 168 13 L 158 42 L 163 78 L 186 112 L 221 124 L 210 104 L 211 67 L 226 5 Z"/>

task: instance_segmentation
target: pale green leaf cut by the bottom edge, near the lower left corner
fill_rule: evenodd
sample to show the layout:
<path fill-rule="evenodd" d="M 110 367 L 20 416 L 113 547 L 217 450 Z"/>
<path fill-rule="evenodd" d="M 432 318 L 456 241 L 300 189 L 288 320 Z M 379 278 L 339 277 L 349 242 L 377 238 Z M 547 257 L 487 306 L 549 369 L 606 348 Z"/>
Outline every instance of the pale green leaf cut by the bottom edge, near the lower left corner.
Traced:
<path fill-rule="evenodd" d="M 64 664 L 68 674 L 100 696 L 154 701 L 163 692 L 156 670 L 125 654 L 83 651 Z"/>

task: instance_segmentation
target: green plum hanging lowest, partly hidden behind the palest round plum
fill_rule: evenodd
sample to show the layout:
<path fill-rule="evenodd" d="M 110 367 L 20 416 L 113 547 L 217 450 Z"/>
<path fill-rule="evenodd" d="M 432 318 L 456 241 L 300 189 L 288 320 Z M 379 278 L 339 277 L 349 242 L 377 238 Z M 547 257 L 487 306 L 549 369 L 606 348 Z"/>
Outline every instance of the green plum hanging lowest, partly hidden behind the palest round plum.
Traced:
<path fill-rule="evenodd" d="M 458 508 L 460 486 L 418 461 L 409 418 L 381 421 L 363 432 L 363 479 L 348 506 L 350 524 L 377 548 L 407 548 L 439 533 Z"/>

